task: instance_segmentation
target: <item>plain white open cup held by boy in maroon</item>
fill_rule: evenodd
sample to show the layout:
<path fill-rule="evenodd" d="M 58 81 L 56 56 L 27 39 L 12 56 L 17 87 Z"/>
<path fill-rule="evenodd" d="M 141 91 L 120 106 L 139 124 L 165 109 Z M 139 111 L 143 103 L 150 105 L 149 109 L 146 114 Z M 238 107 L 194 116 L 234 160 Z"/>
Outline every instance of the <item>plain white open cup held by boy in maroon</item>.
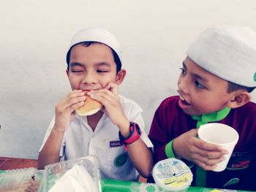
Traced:
<path fill-rule="evenodd" d="M 213 169 L 214 172 L 222 172 L 225 170 L 233 149 L 238 142 L 238 132 L 234 128 L 222 123 L 207 123 L 200 126 L 197 134 L 199 139 L 218 145 L 228 151 L 228 154 L 224 155 L 225 160 L 217 164 L 216 168 Z"/>

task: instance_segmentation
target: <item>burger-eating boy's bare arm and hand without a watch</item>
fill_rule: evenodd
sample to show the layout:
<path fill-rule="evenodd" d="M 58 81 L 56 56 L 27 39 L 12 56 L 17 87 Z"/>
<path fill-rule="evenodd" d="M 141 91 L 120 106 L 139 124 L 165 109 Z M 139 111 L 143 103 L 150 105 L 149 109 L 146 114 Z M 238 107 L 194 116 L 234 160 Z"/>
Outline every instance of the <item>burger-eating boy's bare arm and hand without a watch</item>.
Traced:
<path fill-rule="evenodd" d="M 75 110 L 82 107 L 86 99 L 85 93 L 75 90 L 56 104 L 56 118 L 50 135 L 38 155 L 38 169 L 60 161 L 59 152 L 64 132 L 75 116 Z"/>

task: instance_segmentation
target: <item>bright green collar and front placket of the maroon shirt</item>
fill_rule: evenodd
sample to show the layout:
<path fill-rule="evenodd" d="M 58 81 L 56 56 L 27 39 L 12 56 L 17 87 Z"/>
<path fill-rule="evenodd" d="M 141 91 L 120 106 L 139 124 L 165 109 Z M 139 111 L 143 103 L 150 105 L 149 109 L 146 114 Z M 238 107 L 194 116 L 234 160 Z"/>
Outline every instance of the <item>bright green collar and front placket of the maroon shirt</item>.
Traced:
<path fill-rule="evenodd" d="M 225 107 L 223 110 L 217 112 L 211 112 L 206 115 L 191 115 L 192 119 L 197 120 L 197 128 L 203 126 L 206 123 L 216 122 L 227 117 L 230 112 L 229 107 Z M 206 187 L 206 171 L 200 166 L 196 166 L 196 179 L 195 186 Z"/>

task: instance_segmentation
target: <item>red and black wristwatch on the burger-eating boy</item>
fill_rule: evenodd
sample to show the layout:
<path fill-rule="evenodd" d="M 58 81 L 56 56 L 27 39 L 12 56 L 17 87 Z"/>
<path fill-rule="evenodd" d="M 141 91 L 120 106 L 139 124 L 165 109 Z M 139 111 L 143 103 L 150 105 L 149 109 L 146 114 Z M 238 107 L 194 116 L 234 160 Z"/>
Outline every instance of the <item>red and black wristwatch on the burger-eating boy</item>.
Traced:
<path fill-rule="evenodd" d="M 137 123 L 134 122 L 129 123 L 129 135 L 127 137 L 123 137 L 121 135 L 121 132 L 119 131 L 119 139 L 124 146 L 124 150 L 128 151 L 126 145 L 129 145 L 132 142 L 135 142 L 138 139 L 140 139 L 140 134 L 140 127 L 138 126 Z"/>

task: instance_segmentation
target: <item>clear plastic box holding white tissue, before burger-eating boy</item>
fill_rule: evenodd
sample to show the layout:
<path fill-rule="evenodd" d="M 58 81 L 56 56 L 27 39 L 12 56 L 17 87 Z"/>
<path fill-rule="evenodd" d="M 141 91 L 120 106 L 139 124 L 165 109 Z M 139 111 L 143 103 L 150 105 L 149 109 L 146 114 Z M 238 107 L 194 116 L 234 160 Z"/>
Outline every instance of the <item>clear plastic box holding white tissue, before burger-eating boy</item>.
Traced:
<path fill-rule="evenodd" d="M 86 171 L 90 174 L 97 192 L 101 192 L 100 174 L 99 166 L 97 163 L 97 158 L 88 155 L 84 158 L 72 159 L 68 161 L 61 161 L 56 164 L 50 164 L 45 166 L 45 172 L 42 178 L 42 184 L 40 186 L 40 191 L 46 192 L 55 185 L 64 174 L 73 168 L 73 166 L 83 166 Z"/>

